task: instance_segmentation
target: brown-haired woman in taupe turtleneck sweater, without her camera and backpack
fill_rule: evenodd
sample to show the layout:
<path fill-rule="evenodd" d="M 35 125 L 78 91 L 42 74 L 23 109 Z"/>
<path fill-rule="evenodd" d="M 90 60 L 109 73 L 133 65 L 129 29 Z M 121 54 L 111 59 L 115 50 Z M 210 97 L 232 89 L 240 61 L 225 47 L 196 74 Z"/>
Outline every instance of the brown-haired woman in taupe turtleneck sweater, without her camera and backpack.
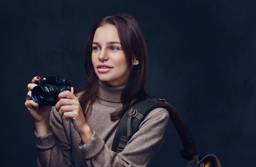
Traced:
<path fill-rule="evenodd" d="M 85 53 L 89 85 L 74 95 L 58 95 L 55 107 L 39 107 L 28 85 L 25 105 L 35 120 L 38 166 L 147 166 L 168 126 L 168 111 L 152 110 L 126 148 L 111 150 L 118 123 L 135 102 L 147 98 L 144 83 L 147 53 L 144 37 L 132 16 L 103 18 L 90 32 Z M 58 112 L 57 112 L 58 111 Z"/>

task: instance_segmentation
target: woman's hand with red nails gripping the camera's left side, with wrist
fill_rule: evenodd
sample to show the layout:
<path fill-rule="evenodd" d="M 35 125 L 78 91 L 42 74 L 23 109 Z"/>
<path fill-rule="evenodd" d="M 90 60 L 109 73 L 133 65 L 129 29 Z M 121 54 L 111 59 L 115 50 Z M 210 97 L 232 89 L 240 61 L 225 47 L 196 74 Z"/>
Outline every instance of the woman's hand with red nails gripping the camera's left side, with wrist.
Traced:
<path fill-rule="evenodd" d="M 31 98 L 31 90 L 37 86 L 36 81 L 40 80 L 40 77 L 34 77 L 32 83 L 27 85 L 28 93 L 25 102 L 25 106 L 29 110 L 29 114 L 34 118 L 36 133 L 39 135 L 46 135 L 49 130 L 49 116 L 52 110 L 51 106 L 39 106 L 38 103 L 34 102 Z"/>

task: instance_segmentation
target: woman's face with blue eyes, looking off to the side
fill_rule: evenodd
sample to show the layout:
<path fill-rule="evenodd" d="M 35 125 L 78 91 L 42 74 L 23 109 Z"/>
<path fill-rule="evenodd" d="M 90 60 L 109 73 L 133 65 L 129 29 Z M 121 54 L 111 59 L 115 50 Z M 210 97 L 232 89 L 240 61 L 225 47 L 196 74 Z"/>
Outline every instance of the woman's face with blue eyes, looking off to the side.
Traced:
<path fill-rule="evenodd" d="M 124 83 L 127 62 L 115 26 L 106 25 L 95 31 L 92 44 L 92 64 L 101 81 L 112 86 Z"/>

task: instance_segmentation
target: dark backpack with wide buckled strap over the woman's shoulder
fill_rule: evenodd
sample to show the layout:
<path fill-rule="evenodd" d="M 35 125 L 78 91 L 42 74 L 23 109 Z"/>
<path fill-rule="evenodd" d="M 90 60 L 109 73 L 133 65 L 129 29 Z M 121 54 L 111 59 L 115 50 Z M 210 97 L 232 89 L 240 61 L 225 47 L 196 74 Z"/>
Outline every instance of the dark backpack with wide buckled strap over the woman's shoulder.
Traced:
<path fill-rule="evenodd" d="M 155 108 L 165 108 L 169 111 L 183 149 L 180 151 L 182 158 L 189 160 L 186 167 L 221 167 L 218 158 L 209 154 L 198 156 L 195 151 L 195 142 L 192 133 L 181 114 L 164 99 L 146 98 L 132 105 L 120 120 L 112 143 L 112 151 L 120 153 L 126 147 L 130 138 L 138 131 L 139 125 L 145 116 Z"/>

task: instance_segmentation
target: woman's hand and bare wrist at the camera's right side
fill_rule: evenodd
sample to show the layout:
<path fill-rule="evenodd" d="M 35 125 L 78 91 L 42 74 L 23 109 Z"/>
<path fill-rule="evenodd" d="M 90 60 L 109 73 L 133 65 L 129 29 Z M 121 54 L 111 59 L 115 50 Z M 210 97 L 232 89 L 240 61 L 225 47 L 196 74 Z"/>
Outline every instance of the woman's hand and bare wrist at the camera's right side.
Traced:
<path fill-rule="evenodd" d="M 63 91 L 58 94 L 58 99 L 60 100 L 55 105 L 58 114 L 63 120 L 70 120 L 73 123 L 74 129 L 79 133 L 83 144 L 89 142 L 93 132 L 85 120 L 78 98 L 74 96 L 74 88 L 71 87 L 71 92 Z"/>

